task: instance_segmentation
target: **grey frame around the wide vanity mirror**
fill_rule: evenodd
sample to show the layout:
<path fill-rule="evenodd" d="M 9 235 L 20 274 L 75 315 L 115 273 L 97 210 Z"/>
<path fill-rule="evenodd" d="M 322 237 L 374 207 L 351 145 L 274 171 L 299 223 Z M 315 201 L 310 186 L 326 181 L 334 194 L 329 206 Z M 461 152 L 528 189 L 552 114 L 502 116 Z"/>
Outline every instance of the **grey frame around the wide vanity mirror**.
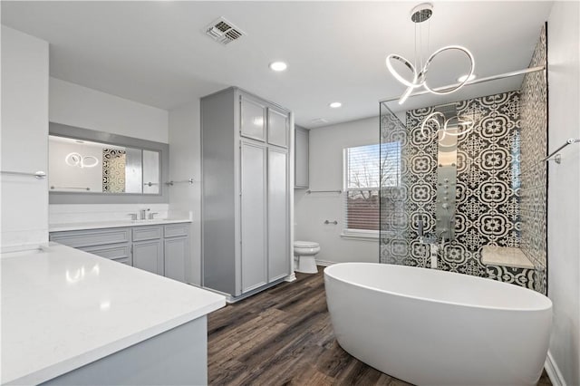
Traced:
<path fill-rule="evenodd" d="M 49 122 L 49 135 L 72 138 L 74 140 L 92 140 L 105 144 L 125 146 L 139 150 L 160 152 L 160 193 L 103 193 L 103 192 L 48 192 L 49 204 L 158 204 L 169 203 L 169 144 L 125 137 L 104 131 L 82 129 L 62 123 Z M 48 140 L 48 137 L 47 139 Z M 50 173 L 50 170 L 49 170 Z"/>

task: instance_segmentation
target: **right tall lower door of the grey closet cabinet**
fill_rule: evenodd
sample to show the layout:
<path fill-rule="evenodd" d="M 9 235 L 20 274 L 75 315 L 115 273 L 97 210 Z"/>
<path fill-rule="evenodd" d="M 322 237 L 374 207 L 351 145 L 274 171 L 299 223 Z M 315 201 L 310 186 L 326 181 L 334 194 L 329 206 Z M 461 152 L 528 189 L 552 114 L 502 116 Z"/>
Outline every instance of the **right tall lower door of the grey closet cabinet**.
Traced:
<path fill-rule="evenodd" d="M 268 149 L 268 282 L 290 273 L 288 152 Z"/>

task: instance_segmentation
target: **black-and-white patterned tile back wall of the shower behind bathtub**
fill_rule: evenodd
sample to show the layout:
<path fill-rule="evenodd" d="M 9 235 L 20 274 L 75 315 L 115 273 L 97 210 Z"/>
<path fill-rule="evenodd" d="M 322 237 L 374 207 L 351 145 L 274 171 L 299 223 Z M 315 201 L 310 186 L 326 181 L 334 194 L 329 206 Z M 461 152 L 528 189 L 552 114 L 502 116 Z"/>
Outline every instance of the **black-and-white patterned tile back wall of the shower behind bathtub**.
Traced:
<path fill-rule="evenodd" d="M 519 247 L 518 98 L 406 111 L 405 124 L 381 104 L 381 142 L 401 144 L 400 183 L 381 186 L 382 263 L 488 277 L 483 246 Z"/>

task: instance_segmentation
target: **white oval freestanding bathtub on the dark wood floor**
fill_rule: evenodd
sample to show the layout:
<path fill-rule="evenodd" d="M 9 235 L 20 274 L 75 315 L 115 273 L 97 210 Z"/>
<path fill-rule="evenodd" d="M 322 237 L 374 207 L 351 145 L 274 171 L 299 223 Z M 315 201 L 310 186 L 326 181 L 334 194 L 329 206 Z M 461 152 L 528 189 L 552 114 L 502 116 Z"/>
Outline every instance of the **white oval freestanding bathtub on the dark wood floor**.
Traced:
<path fill-rule="evenodd" d="M 542 373 L 552 302 L 517 285 L 426 268 L 324 269 L 336 340 L 418 385 L 531 385 Z"/>

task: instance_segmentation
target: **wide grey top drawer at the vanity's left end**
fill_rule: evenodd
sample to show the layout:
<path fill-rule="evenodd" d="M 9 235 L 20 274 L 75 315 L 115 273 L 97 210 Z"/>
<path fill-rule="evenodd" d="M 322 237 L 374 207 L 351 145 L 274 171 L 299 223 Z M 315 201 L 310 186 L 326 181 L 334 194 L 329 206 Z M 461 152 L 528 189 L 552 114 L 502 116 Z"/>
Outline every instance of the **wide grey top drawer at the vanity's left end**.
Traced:
<path fill-rule="evenodd" d="M 74 230 L 70 232 L 54 232 L 50 240 L 65 246 L 80 248 L 82 246 L 103 246 L 131 242 L 131 228 L 110 228 L 94 230 Z"/>

